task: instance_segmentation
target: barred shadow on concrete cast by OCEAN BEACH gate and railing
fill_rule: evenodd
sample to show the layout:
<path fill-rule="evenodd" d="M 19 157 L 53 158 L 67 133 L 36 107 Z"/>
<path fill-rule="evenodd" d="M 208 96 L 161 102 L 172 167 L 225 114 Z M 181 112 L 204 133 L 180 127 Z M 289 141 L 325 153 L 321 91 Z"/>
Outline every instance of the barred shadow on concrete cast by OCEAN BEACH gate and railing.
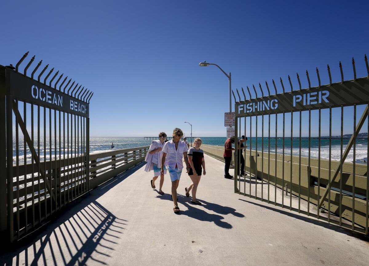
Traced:
<path fill-rule="evenodd" d="M 25 260 L 22 265 L 86 265 L 87 259 L 106 265 L 93 253 L 110 257 L 109 251 L 118 244 L 114 240 L 122 237 L 128 221 L 115 217 L 96 200 L 144 164 L 141 162 L 69 203 L 49 223 L 3 250 L 1 265 L 18 266 L 21 260 Z"/>

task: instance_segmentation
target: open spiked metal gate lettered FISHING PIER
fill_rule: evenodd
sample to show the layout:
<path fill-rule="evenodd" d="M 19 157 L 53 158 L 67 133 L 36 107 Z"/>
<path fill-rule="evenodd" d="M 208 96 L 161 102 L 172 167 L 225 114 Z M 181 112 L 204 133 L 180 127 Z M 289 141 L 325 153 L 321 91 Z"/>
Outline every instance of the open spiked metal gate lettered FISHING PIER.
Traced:
<path fill-rule="evenodd" d="M 366 55 L 365 64 L 368 76 L 356 78 L 353 58 L 354 79 L 345 81 L 339 62 L 341 81 L 338 83 L 332 83 L 328 65 L 328 85 L 321 85 L 317 68 L 317 87 L 311 87 L 306 71 L 308 88 L 304 90 L 301 89 L 299 74 L 298 90 L 293 89 L 290 76 L 288 92 L 282 78 L 282 93 L 277 93 L 274 80 L 274 95 L 270 95 L 267 82 L 268 94 L 260 83 L 259 95 L 253 85 L 255 97 L 247 87 L 247 100 L 242 88 L 244 101 L 241 101 L 237 90 L 235 157 L 238 160 L 243 157 L 246 176 L 239 176 L 241 169 L 237 163 L 235 193 L 367 235 L 368 159 L 363 159 L 363 163 L 356 162 L 359 147 L 366 157 L 369 151 L 368 135 L 359 134 L 361 130 L 369 132 L 369 67 Z M 362 113 L 359 119 L 356 113 Z M 350 135 L 345 136 L 348 131 Z M 338 136 L 334 136 L 335 132 Z M 249 147 L 239 150 L 241 143 L 237 139 L 241 135 L 249 138 Z"/>

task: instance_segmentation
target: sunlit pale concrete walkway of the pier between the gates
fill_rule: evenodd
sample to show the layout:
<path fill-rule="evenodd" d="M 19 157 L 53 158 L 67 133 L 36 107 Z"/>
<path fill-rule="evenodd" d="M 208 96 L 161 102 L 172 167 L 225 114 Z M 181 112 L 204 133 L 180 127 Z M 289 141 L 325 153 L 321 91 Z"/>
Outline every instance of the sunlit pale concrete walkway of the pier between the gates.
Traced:
<path fill-rule="evenodd" d="M 359 234 L 237 195 L 223 162 L 205 160 L 203 205 L 184 195 L 183 171 L 173 213 L 169 175 L 159 195 L 142 162 L 1 254 L 1 265 L 369 265 Z"/>

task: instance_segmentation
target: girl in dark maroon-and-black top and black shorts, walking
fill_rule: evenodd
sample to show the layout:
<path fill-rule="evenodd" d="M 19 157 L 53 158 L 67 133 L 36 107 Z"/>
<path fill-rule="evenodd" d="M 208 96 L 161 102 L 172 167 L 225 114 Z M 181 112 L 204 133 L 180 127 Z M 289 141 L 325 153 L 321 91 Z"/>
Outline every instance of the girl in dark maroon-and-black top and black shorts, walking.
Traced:
<path fill-rule="evenodd" d="M 184 188 L 186 190 L 186 196 L 190 196 L 190 190 L 192 189 L 192 200 L 191 203 L 193 204 L 201 204 L 196 199 L 196 191 L 197 186 L 199 186 L 200 179 L 201 179 L 201 172 L 204 169 L 204 175 L 206 175 L 205 171 L 205 160 L 204 160 L 204 151 L 200 149 L 202 140 L 200 138 L 196 138 L 193 141 L 193 147 L 191 147 L 188 152 L 188 163 L 190 167 L 190 171 L 188 172 L 188 175 L 190 176 L 192 183 L 187 188 Z"/>

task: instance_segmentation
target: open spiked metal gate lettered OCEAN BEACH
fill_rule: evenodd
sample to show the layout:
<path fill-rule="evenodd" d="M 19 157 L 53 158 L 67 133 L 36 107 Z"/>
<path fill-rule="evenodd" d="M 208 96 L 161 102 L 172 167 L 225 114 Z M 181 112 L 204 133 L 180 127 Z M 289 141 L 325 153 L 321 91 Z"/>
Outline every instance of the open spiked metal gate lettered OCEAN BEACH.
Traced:
<path fill-rule="evenodd" d="M 27 55 L 15 67 L 0 65 L 0 229 L 10 242 L 89 191 L 93 93 L 54 68 L 46 71 L 48 64 L 34 78 L 42 60 L 28 77 L 35 56 L 20 73 Z"/>

